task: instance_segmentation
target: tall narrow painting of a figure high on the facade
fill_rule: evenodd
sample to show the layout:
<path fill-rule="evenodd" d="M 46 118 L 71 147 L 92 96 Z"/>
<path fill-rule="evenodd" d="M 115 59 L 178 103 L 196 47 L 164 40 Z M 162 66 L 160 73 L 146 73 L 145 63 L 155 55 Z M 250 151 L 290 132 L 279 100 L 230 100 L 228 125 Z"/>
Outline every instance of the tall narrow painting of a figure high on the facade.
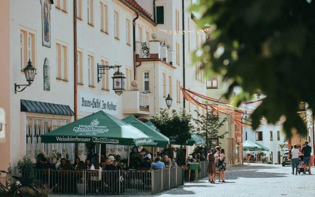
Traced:
<path fill-rule="evenodd" d="M 50 48 L 50 0 L 40 0 L 42 21 L 42 45 Z"/>

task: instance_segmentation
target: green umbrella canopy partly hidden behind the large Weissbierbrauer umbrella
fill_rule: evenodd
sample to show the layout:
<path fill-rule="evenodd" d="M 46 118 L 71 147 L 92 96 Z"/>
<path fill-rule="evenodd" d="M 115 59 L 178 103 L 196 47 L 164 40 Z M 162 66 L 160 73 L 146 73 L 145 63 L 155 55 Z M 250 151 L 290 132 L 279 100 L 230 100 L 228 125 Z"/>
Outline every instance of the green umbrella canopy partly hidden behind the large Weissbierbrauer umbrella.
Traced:
<path fill-rule="evenodd" d="M 155 130 L 153 127 L 150 127 L 147 124 L 141 122 L 140 120 L 133 118 L 132 116 L 128 116 L 124 118 L 122 121 L 132 125 L 133 127 L 137 128 L 138 130 L 152 137 L 154 141 L 154 145 L 150 145 L 150 146 L 166 147 L 167 144 L 169 144 L 168 137 L 166 137 L 159 131 Z"/>

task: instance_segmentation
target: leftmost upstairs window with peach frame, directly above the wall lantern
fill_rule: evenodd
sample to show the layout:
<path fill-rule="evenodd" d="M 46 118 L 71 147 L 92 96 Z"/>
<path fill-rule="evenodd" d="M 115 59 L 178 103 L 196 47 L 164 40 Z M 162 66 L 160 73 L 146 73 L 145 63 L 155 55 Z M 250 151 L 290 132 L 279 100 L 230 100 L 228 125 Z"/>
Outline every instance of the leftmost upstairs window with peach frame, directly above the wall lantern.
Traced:
<path fill-rule="evenodd" d="M 36 65 L 35 59 L 35 34 L 21 30 L 20 32 L 20 67 L 23 70 L 27 66 L 29 60 L 32 65 Z M 36 67 L 36 66 L 35 66 Z"/>

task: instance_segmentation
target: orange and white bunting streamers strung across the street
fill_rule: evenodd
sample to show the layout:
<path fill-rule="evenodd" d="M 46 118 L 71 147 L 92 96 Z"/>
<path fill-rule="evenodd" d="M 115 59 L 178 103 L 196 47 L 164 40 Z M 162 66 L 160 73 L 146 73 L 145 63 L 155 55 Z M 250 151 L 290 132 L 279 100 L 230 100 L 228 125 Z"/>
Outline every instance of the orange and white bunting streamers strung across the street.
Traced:
<path fill-rule="evenodd" d="M 185 89 L 183 87 L 181 87 L 181 90 L 183 92 L 184 98 L 187 101 L 193 103 L 194 105 L 198 105 L 199 107 L 201 107 L 203 109 L 214 110 L 218 114 L 220 113 L 220 114 L 224 114 L 224 115 L 231 115 L 233 117 L 234 123 L 238 126 L 242 126 L 242 127 L 251 127 L 252 126 L 252 122 L 249 121 L 248 119 L 244 118 L 244 116 L 252 115 L 252 112 L 254 110 L 244 109 L 241 107 L 235 107 L 229 101 L 221 100 L 221 99 L 214 99 L 214 98 L 211 98 L 208 96 L 204 96 L 204 95 L 201 95 L 201 94 L 196 93 L 194 91 Z M 209 103 L 207 103 L 207 104 L 201 103 L 197 99 L 195 99 L 196 97 L 203 99 L 203 100 L 206 100 L 206 101 L 211 101 L 211 103 L 210 104 Z M 261 102 L 262 102 L 262 99 L 253 100 L 253 101 L 249 101 L 249 102 L 242 102 L 240 106 L 246 105 L 246 107 L 249 107 L 248 106 L 249 104 L 259 105 L 259 104 L 261 104 Z M 221 105 L 219 105 L 219 104 L 221 104 Z M 265 118 L 262 118 L 261 120 L 264 122 L 267 122 L 267 120 Z M 285 119 L 282 118 L 279 121 L 277 121 L 277 123 L 275 125 L 283 125 L 284 121 L 285 121 Z M 267 126 L 267 125 L 266 124 L 260 124 L 259 126 Z"/>

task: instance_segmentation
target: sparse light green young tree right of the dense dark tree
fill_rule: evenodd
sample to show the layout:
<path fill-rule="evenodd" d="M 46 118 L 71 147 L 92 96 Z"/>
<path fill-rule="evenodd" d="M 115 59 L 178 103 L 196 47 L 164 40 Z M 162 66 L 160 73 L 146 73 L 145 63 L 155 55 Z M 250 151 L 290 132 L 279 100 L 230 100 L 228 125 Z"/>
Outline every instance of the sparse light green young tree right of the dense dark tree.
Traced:
<path fill-rule="evenodd" d="M 219 134 L 219 130 L 223 126 L 224 122 L 226 122 L 226 118 L 221 121 L 220 115 L 214 110 L 207 110 L 206 115 L 200 114 L 197 110 L 195 110 L 195 112 L 197 113 L 198 118 L 194 119 L 194 121 L 196 125 L 199 126 L 195 129 L 195 131 L 197 131 L 198 135 L 206 139 L 206 144 L 202 147 L 196 147 L 194 152 L 200 153 L 200 151 L 202 151 L 202 154 L 206 156 L 209 148 L 213 148 L 214 146 L 211 139 L 223 139 L 224 134 L 227 133 L 227 131 L 225 131 L 224 133 Z"/>

